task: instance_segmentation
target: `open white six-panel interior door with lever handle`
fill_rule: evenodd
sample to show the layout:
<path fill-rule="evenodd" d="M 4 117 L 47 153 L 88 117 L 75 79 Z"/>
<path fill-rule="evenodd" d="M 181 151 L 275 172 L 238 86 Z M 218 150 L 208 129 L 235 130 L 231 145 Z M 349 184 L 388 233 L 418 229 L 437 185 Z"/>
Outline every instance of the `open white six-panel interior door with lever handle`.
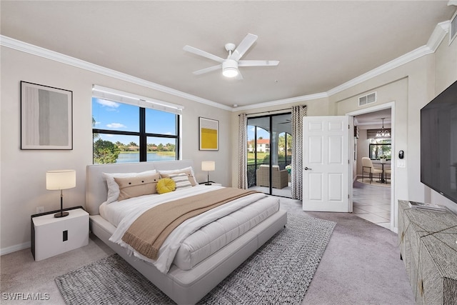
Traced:
<path fill-rule="evenodd" d="M 351 212 L 349 116 L 303 118 L 303 211 Z"/>

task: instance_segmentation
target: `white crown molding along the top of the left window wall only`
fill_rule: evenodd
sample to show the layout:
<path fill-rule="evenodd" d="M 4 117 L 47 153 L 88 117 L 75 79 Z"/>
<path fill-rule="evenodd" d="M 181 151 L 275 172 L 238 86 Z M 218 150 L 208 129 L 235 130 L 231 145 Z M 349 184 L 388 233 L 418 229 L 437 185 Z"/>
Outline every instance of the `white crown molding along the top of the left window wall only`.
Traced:
<path fill-rule="evenodd" d="M 67 56 L 67 55 L 64 55 L 64 54 L 61 54 L 61 53 L 58 53 L 55 51 L 41 48 L 40 46 L 34 46 L 33 44 L 27 44 L 24 41 L 12 39 L 8 36 L 0 35 L 0 46 L 6 46 L 7 48 L 10 48 L 10 49 L 15 49 L 15 50 L 22 51 L 22 52 L 25 52 L 28 54 L 40 56 L 45 59 L 51 59 L 53 61 L 58 61 L 58 62 L 61 62 L 62 64 L 68 64 L 70 66 L 75 66 L 77 68 L 95 72 L 97 74 L 109 76 L 114 79 L 128 81 L 129 83 L 132 83 L 132 84 L 144 86 L 146 88 L 161 91 L 166 94 L 171 94 L 173 96 L 179 96 L 181 98 L 188 99 L 190 101 L 196 101 L 201 104 L 218 107 L 218 108 L 225 109 L 225 110 L 231 110 L 231 107 L 216 103 L 215 101 L 210 101 L 209 99 L 202 99 L 199 96 L 194 96 L 192 94 L 186 94 L 183 91 L 171 89 L 167 86 L 162 86 L 162 85 L 153 83 L 152 81 L 146 81 L 144 79 L 140 79 L 138 77 L 131 76 L 129 74 L 124 74 L 119 71 L 105 68 L 103 66 L 91 64 L 89 61 L 83 61 L 81 59 L 76 59 L 71 56 Z"/>

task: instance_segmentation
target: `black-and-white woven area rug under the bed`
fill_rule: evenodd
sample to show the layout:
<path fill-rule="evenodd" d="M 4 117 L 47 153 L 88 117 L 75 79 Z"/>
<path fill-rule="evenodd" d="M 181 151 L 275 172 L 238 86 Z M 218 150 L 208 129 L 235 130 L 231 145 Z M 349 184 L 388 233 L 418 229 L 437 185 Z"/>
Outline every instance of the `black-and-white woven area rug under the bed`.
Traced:
<path fill-rule="evenodd" d="M 288 213 L 278 232 L 199 304 L 300 304 L 336 223 Z M 66 304 L 174 304 L 117 254 L 56 278 Z"/>

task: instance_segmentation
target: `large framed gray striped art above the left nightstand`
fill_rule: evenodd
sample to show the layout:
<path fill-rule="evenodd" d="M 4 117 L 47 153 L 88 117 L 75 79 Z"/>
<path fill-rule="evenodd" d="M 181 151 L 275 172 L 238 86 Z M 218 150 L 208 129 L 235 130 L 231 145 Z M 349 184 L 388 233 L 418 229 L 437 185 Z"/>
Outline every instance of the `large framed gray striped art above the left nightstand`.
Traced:
<path fill-rule="evenodd" d="M 21 149 L 73 149 L 73 91 L 21 81 Z"/>

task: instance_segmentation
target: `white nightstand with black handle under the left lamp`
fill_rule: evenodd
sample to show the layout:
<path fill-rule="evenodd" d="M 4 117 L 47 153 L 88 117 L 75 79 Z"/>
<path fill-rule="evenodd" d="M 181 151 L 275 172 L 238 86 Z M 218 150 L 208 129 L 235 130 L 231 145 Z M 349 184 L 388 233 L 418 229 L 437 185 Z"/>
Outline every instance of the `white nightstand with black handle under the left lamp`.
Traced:
<path fill-rule="evenodd" d="M 67 210 L 69 216 L 54 213 L 32 216 L 32 254 L 35 261 L 89 244 L 89 214 L 84 209 Z"/>

